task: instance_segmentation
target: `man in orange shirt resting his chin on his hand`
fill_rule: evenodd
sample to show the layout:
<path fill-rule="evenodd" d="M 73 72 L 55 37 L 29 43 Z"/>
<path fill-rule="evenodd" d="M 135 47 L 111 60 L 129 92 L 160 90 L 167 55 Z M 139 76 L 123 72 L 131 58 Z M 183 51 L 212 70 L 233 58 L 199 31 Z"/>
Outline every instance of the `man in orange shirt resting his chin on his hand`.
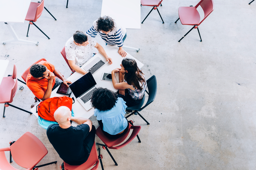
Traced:
<path fill-rule="evenodd" d="M 27 76 L 27 86 L 33 94 L 40 100 L 51 97 L 52 90 L 57 88 L 63 81 L 68 86 L 71 81 L 66 80 L 59 70 L 47 61 L 40 61 L 33 64 Z M 59 79 L 60 78 L 60 79 Z"/>

